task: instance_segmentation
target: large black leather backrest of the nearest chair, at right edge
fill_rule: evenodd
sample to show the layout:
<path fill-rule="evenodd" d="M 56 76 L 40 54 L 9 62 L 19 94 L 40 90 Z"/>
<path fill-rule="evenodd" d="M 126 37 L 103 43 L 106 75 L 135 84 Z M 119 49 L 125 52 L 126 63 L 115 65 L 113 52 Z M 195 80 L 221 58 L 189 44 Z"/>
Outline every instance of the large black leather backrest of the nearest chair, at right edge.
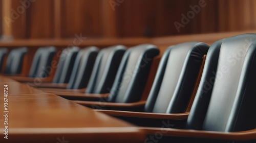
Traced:
<path fill-rule="evenodd" d="M 256 127 L 255 54 L 256 34 L 210 46 L 188 129 L 232 132 Z"/>

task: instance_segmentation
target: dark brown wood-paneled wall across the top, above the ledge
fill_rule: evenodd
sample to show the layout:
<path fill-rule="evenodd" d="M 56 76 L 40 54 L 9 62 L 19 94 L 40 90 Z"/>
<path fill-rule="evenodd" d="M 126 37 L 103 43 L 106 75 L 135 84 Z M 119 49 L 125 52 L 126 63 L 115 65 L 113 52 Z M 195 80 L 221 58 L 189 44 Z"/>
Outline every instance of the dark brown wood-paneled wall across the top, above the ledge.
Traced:
<path fill-rule="evenodd" d="M 8 10 L 0 0 L 0 14 Z M 14 39 L 159 37 L 256 29 L 256 0 L 7 0 Z M 24 5 L 20 2 L 26 2 Z M 28 4 L 29 3 L 29 4 Z M 205 4 L 184 24 L 182 14 Z M 0 34 L 5 35 L 6 21 Z M 183 27 L 175 27 L 179 22 Z"/>

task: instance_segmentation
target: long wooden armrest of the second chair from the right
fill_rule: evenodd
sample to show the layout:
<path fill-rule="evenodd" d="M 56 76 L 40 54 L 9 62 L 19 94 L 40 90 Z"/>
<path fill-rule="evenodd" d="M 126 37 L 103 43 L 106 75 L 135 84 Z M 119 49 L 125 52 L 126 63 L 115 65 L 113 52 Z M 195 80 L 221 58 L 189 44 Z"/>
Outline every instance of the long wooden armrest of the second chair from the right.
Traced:
<path fill-rule="evenodd" d="M 113 116 L 133 116 L 133 117 L 144 117 L 144 118 L 165 118 L 165 119 L 177 119 L 183 120 L 187 119 L 189 112 L 186 113 L 148 113 L 148 112 L 131 112 L 131 111 L 113 111 L 113 110 L 96 110 L 104 114 Z"/>

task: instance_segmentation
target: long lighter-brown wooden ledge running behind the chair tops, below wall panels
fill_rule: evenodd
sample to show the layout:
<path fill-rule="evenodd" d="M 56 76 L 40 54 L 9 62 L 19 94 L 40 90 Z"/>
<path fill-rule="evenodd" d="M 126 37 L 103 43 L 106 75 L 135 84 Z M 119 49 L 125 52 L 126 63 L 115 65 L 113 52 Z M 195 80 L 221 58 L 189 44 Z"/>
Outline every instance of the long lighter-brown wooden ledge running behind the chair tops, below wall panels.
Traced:
<path fill-rule="evenodd" d="M 138 45 L 141 43 L 152 43 L 157 46 L 163 46 L 166 49 L 167 46 L 188 42 L 188 41 L 200 41 L 208 44 L 212 44 L 213 42 L 239 35 L 245 33 L 256 33 L 255 30 L 249 31 L 240 31 L 240 32 L 224 32 L 224 33 L 208 33 L 208 34 L 191 34 L 191 35 L 180 35 L 180 36 L 166 36 L 166 37 L 157 37 L 157 38 L 144 38 L 144 37 L 134 37 L 134 38 L 91 38 L 86 39 L 79 45 L 80 47 L 95 45 L 100 48 L 115 45 L 115 44 L 123 44 L 128 47 Z M 54 45 L 58 49 L 60 47 L 63 49 L 67 47 L 70 43 L 73 42 L 73 39 L 33 39 L 33 40 L 14 40 L 12 42 L 1 41 L 0 46 L 6 47 L 17 47 L 17 46 L 28 46 L 29 47 L 29 55 L 33 56 L 33 53 L 36 51 L 36 47 L 39 46 L 48 46 Z M 34 52 L 32 52 L 34 51 Z M 32 57 L 33 58 L 33 57 Z"/>

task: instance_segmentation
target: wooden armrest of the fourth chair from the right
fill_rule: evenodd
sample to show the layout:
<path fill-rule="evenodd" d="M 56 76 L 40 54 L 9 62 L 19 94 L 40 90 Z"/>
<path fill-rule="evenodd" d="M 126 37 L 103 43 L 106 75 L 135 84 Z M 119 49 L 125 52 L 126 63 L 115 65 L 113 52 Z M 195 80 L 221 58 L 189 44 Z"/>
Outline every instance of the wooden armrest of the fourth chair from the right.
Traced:
<path fill-rule="evenodd" d="M 79 100 L 79 101 L 99 101 L 100 99 L 105 99 L 109 97 L 109 93 L 105 94 L 90 94 L 82 92 L 53 92 L 57 96 L 60 96 L 69 100 Z"/>

